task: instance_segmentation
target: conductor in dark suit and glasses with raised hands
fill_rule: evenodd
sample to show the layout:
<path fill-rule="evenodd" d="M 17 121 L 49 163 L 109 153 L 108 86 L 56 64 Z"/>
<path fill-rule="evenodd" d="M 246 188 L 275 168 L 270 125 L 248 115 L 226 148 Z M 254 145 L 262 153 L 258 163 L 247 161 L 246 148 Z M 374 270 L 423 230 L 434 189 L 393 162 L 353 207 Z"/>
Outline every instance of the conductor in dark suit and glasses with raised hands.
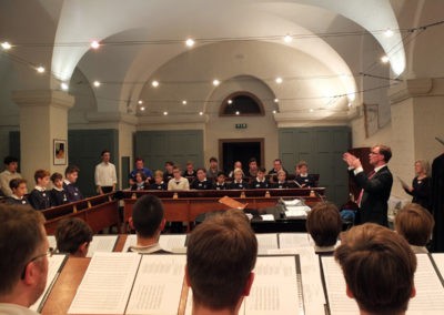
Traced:
<path fill-rule="evenodd" d="M 356 201 L 361 209 L 361 223 L 373 222 L 389 226 L 387 201 L 392 191 L 393 176 L 386 164 L 391 158 L 392 151 L 389 146 L 373 146 L 369 160 L 374 170 L 365 174 L 360 159 L 349 152 L 343 154 L 351 176 L 361 189 Z"/>

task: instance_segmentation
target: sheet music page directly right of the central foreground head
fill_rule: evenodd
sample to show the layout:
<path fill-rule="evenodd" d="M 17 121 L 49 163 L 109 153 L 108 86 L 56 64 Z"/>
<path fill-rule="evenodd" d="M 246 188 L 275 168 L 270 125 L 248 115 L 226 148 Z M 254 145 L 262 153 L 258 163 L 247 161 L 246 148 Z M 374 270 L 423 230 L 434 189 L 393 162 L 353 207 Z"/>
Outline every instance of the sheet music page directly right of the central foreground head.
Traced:
<path fill-rule="evenodd" d="M 303 309 L 299 302 L 295 257 L 258 257 L 253 286 L 241 306 L 245 314 L 295 314 Z"/>

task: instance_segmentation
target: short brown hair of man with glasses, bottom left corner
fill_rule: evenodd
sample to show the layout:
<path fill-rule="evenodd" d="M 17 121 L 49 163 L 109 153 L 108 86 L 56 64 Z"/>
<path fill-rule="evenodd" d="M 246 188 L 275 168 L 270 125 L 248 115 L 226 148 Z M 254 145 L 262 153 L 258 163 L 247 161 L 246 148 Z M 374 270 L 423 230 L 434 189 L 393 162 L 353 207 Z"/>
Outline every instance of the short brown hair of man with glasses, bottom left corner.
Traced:
<path fill-rule="evenodd" d="M 43 215 L 29 205 L 0 204 L 0 296 L 3 296 L 12 292 L 46 236 Z"/>

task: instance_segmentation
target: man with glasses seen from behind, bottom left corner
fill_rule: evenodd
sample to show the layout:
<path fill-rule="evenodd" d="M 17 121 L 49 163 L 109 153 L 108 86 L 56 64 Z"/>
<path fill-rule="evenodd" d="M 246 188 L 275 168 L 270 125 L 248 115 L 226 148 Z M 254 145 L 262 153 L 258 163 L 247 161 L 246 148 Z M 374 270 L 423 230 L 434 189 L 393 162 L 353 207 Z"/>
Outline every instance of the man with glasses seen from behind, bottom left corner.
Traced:
<path fill-rule="evenodd" d="M 0 205 L 0 314 L 38 314 L 28 307 L 43 293 L 49 248 L 44 217 L 30 206 Z"/>

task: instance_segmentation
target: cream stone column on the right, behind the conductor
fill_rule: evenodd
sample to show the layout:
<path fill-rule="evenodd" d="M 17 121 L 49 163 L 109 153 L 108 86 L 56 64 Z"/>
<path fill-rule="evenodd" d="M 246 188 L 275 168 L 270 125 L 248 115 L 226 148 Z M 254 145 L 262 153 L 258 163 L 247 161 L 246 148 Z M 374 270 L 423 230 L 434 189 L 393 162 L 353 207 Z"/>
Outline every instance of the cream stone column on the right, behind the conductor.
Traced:
<path fill-rule="evenodd" d="M 414 161 L 433 159 L 443 152 L 435 136 L 444 138 L 444 79 L 412 79 L 394 85 L 389 91 L 392 111 L 392 150 L 390 165 L 395 175 L 411 182 Z M 392 194 L 407 196 L 398 181 Z"/>

